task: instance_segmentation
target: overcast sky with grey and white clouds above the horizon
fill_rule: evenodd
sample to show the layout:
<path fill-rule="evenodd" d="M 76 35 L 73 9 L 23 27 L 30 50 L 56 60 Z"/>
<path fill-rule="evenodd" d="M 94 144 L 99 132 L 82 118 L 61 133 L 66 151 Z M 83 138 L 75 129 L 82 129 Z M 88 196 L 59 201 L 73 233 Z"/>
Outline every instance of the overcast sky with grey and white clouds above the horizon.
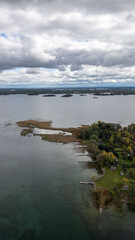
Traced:
<path fill-rule="evenodd" d="M 0 0 L 2 86 L 135 86 L 135 1 Z"/>

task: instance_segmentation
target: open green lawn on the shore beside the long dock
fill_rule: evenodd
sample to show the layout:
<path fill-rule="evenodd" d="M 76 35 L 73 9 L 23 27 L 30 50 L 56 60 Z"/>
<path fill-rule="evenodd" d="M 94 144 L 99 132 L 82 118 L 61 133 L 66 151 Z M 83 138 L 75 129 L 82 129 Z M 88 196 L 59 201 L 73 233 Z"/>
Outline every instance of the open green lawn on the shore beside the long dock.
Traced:
<path fill-rule="evenodd" d="M 114 179 L 121 179 L 123 176 L 120 175 L 121 167 L 118 167 L 117 171 L 111 171 L 109 168 L 105 168 L 105 175 L 103 178 L 96 181 L 96 185 L 101 188 L 112 190 L 114 186 Z"/>

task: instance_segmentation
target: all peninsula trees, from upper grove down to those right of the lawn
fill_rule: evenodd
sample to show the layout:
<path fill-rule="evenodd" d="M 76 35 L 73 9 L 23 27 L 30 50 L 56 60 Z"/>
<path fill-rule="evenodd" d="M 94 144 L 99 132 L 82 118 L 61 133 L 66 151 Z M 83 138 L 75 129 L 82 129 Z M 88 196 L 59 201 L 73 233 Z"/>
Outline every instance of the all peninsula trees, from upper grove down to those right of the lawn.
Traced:
<path fill-rule="evenodd" d="M 114 179 L 112 195 L 135 202 L 135 124 L 98 121 L 80 128 L 78 137 L 87 142 L 87 150 L 100 168 L 121 169 Z M 111 174 L 111 172 L 110 172 Z"/>

